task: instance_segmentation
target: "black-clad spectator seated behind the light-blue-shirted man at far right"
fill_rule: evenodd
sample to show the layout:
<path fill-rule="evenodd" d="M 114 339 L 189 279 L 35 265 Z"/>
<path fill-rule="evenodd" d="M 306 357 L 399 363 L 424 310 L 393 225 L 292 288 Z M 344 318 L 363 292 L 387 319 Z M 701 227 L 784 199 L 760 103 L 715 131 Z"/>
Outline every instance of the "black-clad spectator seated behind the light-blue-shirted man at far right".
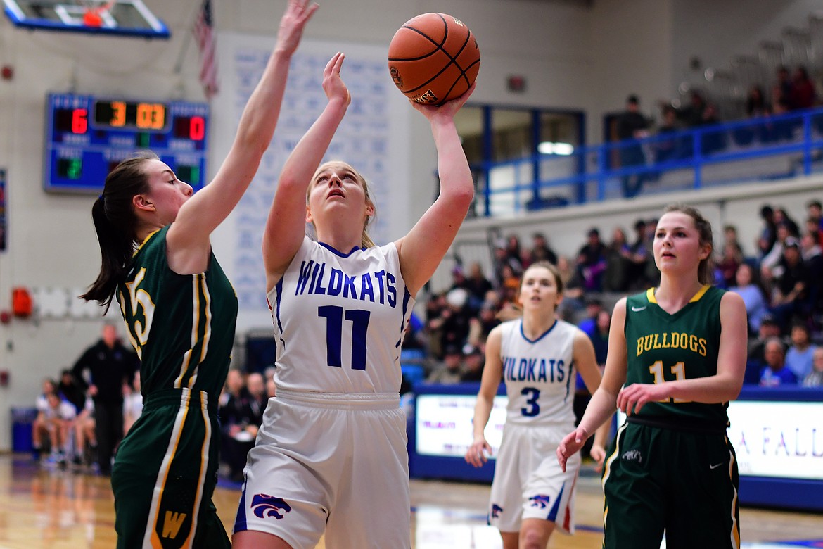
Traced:
<path fill-rule="evenodd" d="M 771 313 L 778 323 L 788 326 L 795 318 L 806 319 L 811 312 L 809 288 L 820 281 L 811 281 L 800 254 L 797 239 L 788 237 L 783 243 L 783 258 L 779 263 L 781 274 L 775 280 L 771 299 Z"/>

